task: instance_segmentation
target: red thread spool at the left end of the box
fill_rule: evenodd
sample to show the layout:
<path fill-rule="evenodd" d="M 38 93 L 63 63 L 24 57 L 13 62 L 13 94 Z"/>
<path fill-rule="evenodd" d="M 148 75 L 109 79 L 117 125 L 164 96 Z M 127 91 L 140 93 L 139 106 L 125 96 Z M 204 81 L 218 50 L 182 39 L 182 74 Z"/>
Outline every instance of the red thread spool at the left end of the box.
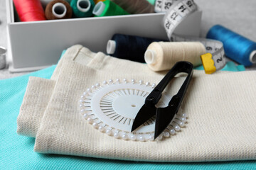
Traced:
<path fill-rule="evenodd" d="M 46 20 L 40 0 L 14 0 L 14 5 L 21 21 Z"/>

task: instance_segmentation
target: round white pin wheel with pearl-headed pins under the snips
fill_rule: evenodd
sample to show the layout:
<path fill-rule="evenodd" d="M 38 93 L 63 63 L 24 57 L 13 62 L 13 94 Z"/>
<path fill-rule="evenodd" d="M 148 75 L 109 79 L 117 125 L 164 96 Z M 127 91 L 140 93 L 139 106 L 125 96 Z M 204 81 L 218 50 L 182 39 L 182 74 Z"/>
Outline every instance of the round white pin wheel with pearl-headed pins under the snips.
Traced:
<path fill-rule="evenodd" d="M 154 89 L 156 84 L 138 82 L 132 79 L 120 81 L 103 81 L 85 91 L 79 101 L 80 113 L 100 132 L 105 132 L 118 139 L 149 141 L 154 140 L 155 116 L 147 120 L 142 126 L 131 132 L 132 123 L 139 109 L 142 108 L 146 96 Z M 171 96 L 162 94 L 156 108 L 168 106 Z M 181 111 L 182 112 L 182 111 Z M 185 126 L 186 114 L 179 112 L 175 115 L 166 130 L 158 139 L 170 137 L 181 127 Z"/>

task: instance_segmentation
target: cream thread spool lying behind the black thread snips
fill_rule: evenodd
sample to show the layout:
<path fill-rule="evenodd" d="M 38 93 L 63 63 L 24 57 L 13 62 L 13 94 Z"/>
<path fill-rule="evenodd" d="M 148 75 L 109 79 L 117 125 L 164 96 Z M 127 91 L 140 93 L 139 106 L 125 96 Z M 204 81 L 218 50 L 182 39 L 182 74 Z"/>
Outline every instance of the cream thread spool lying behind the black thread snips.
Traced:
<path fill-rule="evenodd" d="M 154 71 L 171 69 L 178 61 L 201 64 L 200 56 L 206 53 L 201 42 L 152 42 L 145 52 L 145 61 Z"/>

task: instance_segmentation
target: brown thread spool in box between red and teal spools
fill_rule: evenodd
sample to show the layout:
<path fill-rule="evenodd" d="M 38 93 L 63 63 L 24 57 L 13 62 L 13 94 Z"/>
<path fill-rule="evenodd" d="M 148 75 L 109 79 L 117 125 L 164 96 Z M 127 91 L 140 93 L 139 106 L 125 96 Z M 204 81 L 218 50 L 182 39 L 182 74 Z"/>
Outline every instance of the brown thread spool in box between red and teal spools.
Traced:
<path fill-rule="evenodd" d="M 46 18 L 48 20 L 65 19 L 72 17 L 72 8 L 67 1 L 54 0 L 46 6 Z"/>

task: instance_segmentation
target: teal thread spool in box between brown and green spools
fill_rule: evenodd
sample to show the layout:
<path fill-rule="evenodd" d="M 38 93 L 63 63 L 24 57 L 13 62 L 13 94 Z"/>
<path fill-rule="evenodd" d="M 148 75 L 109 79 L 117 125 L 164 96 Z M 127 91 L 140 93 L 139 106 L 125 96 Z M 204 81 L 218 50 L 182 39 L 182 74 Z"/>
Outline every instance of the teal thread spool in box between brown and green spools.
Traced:
<path fill-rule="evenodd" d="M 95 2 L 93 0 L 72 0 L 70 6 L 73 9 L 75 17 L 84 18 L 92 16 Z"/>

